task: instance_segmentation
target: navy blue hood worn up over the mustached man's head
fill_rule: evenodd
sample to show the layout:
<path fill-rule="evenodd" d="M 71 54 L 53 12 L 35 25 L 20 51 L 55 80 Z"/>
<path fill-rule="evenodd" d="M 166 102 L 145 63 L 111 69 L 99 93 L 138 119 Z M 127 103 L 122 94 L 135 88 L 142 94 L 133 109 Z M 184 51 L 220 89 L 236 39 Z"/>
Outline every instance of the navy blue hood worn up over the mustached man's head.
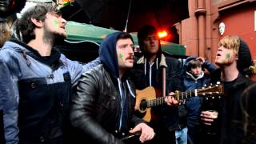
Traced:
<path fill-rule="evenodd" d="M 99 58 L 106 68 L 110 70 L 110 74 L 115 78 L 119 78 L 116 43 L 118 42 L 118 36 L 121 33 L 122 32 L 115 32 L 109 34 L 103 39 L 102 44 L 99 46 Z"/>

